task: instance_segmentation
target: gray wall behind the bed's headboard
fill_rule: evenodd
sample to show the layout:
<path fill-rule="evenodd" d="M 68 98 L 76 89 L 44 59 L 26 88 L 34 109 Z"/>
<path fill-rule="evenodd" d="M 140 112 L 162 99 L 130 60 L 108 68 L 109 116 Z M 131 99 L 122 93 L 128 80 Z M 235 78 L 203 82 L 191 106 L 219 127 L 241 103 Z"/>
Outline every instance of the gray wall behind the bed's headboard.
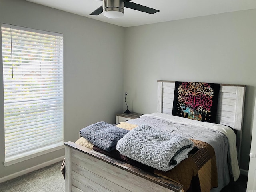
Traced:
<path fill-rule="evenodd" d="M 126 28 L 129 110 L 156 111 L 157 80 L 247 85 L 240 168 L 248 170 L 256 92 L 255 18 L 254 9 Z"/>

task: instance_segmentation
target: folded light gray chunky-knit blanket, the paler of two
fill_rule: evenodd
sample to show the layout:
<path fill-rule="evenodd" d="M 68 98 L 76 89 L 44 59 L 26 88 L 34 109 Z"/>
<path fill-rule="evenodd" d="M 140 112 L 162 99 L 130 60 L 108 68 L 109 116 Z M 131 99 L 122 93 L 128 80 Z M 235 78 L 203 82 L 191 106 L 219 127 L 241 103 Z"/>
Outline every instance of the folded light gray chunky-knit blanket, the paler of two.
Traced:
<path fill-rule="evenodd" d="M 116 149 L 133 160 L 169 171 L 188 158 L 193 145 L 187 138 L 140 125 L 120 139 Z"/>

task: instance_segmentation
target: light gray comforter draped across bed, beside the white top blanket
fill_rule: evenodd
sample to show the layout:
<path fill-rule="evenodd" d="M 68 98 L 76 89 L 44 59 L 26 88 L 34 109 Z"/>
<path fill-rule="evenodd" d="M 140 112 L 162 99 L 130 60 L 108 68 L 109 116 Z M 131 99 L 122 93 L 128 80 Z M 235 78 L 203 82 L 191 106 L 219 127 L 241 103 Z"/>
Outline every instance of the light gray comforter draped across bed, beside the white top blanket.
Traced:
<path fill-rule="evenodd" d="M 196 120 L 194 121 L 196 122 Z M 229 183 L 230 175 L 232 175 L 230 168 L 229 144 L 228 139 L 221 132 L 210 128 L 202 128 L 200 126 L 176 124 L 154 115 L 144 115 L 138 119 L 130 120 L 129 123 L 136 125 L 145 124 L 167 133 L 176 134 L 185 138 L 201 140 L 210 144 L 215 151 L 218 171 L 218 188 L 213 188 L 211 192 L 219 192 Z"/>

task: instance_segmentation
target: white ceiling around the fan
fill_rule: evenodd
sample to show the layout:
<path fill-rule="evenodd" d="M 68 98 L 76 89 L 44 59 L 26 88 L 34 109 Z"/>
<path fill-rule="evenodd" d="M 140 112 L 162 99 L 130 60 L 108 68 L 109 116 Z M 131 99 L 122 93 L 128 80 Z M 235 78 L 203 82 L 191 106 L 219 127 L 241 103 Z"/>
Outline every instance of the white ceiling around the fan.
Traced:
<path fill-rule="evenodd" d="M 256 0 L 133 0 L 132 2 L 160 10 L 155 14 L 124 8 L 124 16 L 110 19 L 100 14 L 89 15 L 102 6 L 100 0 L 26 0 L 88 18 L 123 27 L 165 22 L 256 8 Z"/>

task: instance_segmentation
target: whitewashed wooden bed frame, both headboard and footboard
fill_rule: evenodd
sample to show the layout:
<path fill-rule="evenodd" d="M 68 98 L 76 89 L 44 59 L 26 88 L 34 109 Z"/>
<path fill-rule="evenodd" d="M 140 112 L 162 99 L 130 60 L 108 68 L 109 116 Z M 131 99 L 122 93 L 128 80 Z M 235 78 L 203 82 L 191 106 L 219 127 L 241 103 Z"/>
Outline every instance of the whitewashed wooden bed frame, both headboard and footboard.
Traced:
<path fill-rule="evenodd" d="M 172 114 L 174 81 L 157 81 L 157 112 Z M 238 130 L 238 162 L 246 86 L 221 84 L 217 121 Z M 181 192 L 182 185 L 74 142 L 65 142 L 66 192 Z"/>

